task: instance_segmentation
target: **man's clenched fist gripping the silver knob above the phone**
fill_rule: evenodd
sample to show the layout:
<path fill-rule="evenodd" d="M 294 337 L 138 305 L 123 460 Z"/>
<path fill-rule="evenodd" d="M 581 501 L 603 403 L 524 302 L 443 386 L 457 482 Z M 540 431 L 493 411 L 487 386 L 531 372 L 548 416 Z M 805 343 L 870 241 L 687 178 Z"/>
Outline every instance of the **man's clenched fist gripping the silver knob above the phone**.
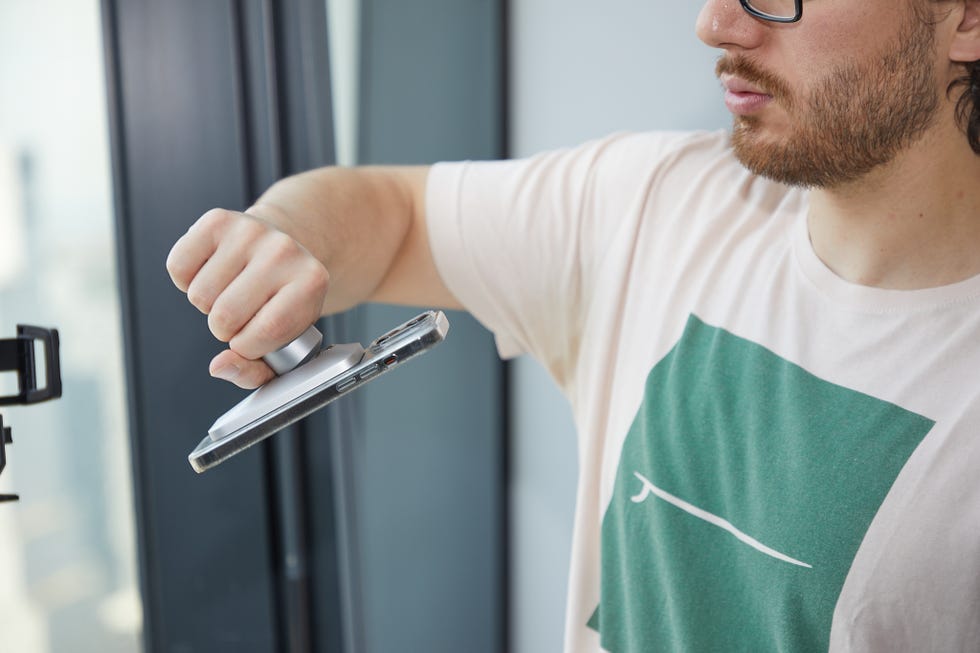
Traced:
<path fill-rule="evenodd" d="M 213 209 L 173 246 L 167 271 L 229 349 L 212 376 L 256 388 L 274 374 L 262 356 L 301 334 L 323 311 L 329 275 L 289 235 L 260 218 Z"/>

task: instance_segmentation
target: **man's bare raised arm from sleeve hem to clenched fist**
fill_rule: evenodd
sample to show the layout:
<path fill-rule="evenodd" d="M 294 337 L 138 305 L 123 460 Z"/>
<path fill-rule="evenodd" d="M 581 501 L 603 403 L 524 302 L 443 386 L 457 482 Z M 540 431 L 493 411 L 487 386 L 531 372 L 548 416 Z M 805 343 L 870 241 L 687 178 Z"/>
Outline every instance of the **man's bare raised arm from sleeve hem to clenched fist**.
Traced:
<path fill-rule="evenodd" d="M 243 388 L 260 359 L 319 315 L 362 302 L 457 308 L 429 250 L 425 167 L 321 168 L 274 184 L 245 213 L 213 209 L 167 270 L 229 349 L 214 376 Z"/>

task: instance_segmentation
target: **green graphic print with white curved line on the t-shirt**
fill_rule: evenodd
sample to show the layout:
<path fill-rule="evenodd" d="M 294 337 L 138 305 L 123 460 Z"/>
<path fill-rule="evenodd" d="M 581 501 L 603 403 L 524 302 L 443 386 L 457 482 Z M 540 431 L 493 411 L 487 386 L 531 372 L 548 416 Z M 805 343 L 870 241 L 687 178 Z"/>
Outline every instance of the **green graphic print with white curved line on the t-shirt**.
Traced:
<path fill-rule="evenodd" d="M 858 546 L 932 425 L 692 315 L 647 377 L 603 518 L 602 647 L 826 651 Z"/>

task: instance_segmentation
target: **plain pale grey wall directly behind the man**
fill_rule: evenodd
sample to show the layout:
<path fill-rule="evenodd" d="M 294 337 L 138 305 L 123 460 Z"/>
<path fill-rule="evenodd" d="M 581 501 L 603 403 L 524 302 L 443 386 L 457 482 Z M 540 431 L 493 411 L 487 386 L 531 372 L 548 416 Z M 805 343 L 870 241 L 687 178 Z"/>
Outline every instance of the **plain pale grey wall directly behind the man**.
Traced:
<path fill-rule="evenodd" d="M 730 118 L 695 0 L 511 3 L 510 151 L 620 130 L 717 129 Z M 513 653 L 560 651 L 577 460 L 568 405 L 534 361 L 511 384 Z"/>

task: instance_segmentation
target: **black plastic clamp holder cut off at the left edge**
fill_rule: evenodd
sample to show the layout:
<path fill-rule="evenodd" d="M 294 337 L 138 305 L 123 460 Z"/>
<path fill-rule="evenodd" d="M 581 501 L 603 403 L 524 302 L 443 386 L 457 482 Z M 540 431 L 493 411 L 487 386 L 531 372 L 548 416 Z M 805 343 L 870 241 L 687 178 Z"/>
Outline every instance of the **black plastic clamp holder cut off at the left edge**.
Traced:
<path fill-rule="evenodd" d="M 38 387 L 35 344 L 44 349 L 44 386 Z M 0 396 L 0 406 L 36 404 L 61 396 L 61 359 L 57 329 L 17 325 L 17 337 L 0 340 L 0 372 L 17 374 L 17 394 Z M 7 464 L 6 446 L 13 444 L 10 427 L 0 415 L 0 473 Z M 16 501 L 16 494 L 0 494 L 0 502 Z"/>

